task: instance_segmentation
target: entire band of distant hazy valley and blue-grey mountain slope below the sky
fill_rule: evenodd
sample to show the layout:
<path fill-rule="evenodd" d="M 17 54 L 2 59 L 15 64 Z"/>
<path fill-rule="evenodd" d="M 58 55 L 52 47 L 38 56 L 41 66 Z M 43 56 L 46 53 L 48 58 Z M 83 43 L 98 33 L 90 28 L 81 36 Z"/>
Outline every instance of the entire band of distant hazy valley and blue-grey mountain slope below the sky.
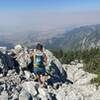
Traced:
<path fill-rule="evenodd" d="M 58 29 L 59 30 L 59 29 Z M 59 30 L 53 33 L 29 32 L 25 34 L 4 36 L 0 35 L 0 45 L 12 46 L 21 43 L 33 47 L 37 42 L 43 43 L 47 48 L 63 50 L 80 50 L 89 48 L 100 48 L 100 24 L 86 25 L 72 28 L 69 31 Z"/>

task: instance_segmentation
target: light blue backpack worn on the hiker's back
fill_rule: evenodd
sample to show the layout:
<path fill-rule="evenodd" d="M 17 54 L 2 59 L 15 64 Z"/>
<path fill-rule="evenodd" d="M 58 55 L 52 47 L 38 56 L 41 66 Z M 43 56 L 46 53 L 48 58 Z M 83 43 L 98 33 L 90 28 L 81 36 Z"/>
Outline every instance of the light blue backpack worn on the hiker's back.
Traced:
<path fill-rule="evenodd" d="M 34 50 L 34 67 L 44 66 L 44 53 L 40 50 Z"/>

